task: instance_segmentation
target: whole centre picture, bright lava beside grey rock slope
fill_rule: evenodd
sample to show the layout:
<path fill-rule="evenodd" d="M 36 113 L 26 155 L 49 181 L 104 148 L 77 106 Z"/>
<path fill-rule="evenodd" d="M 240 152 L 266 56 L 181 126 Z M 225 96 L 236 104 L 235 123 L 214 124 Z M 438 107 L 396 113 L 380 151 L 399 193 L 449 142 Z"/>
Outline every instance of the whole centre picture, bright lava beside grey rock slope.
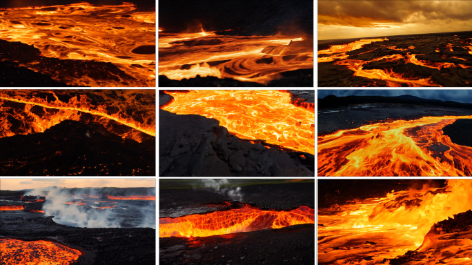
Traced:
<path fill-rule="evenodd" d="M 159 91 L 159 176 L 314 177 L 314 95 Z"/>

